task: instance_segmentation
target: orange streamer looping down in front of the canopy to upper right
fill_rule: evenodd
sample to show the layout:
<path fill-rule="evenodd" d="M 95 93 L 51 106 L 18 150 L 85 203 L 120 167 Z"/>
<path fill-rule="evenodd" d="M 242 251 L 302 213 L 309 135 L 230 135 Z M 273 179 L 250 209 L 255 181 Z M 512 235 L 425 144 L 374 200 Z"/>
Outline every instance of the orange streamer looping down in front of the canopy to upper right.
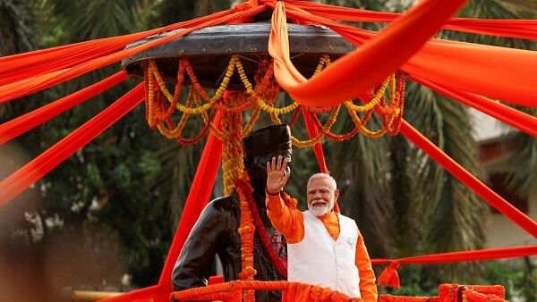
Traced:
<path fill-rule="evenodd" d="M 268 53 L 274 58 L 277 82 L 302 105 L 337 105 L 361 96 L 405 63 L 464 3 L 464 0 L 422 1 L 370 43 L 306 80 L 289 58 L 286 11 L 284 4 L 277 2 L 268 39 Z M 296 15 L 302 19 L 307 17 L 301 13 Z M 394 49 L 397 49 L 396 54 Z M 348 85 L 349 82 L 353 85 Z"/>

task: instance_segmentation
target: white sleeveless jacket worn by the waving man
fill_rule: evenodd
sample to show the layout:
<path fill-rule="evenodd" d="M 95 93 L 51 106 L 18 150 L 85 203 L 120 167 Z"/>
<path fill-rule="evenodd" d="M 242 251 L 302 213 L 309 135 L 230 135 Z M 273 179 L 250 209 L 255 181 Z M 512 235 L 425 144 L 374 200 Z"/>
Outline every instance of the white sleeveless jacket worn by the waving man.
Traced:
<path fill-rule="evenodd" d="M 360 276 L 355 264 L 358 227 L 337 214 L 339 237 L 334 240 L 320 219 L 304 211 L 304 238 L 287 244 L 287 280 L 328 286 L 353 298 L 361 298 Z"/>

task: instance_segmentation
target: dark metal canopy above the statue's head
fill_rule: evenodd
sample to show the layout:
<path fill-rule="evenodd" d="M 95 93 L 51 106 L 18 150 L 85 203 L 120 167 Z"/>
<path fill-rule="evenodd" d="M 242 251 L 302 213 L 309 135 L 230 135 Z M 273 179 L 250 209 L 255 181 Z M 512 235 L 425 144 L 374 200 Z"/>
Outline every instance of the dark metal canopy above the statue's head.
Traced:
<path fill-rule="evenodd" d="M 178 58 L 188 58 L 200 84 L 208 88 L 215 88 L 222 74 L 226 72 L 231 55 L 240 55 L 244 71 L 252 80 L 260 59 L 268 57 L 270 29 L 271 24 L 268 22 L 199 29 L 165 45 L 129 56 L 123 60 L 122 67 L 130 74 L 141 75 L 141 63 L 145 60 L 155 59 L 158 69 L 164 77 L 167 80 L 174 80 Z M 326 54 L 330 55 L 332 59 L 336 59 L 355 48 L 333 30 L 323 26 L 287 24 L 287 31 L 292 61 L 306 77 L 310 77 L 315 71 L 320 55 Z M 144 38 L 128 45 L 127 48 L 169 36 L 174 32 L 176 31 Z M 240 79 L 234 76 L 229 88 L 242 87 Z"/>

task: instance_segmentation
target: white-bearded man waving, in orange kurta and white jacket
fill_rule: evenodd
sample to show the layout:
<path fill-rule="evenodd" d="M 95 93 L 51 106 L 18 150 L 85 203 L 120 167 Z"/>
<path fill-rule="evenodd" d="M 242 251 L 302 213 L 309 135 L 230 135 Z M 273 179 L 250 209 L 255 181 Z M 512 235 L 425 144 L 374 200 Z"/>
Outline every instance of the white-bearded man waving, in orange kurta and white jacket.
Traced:
<path fill-rule="evenodd" d="M 285 205 L 280 192 L 289 179 L 287 159 L 267 162 L 267 214 L 287 240 L 287 280 L 328 286 L 364 302 L 377 301 L 375 274 L 356 222 L 333 211 L 339 197 L 327 173 L 308 180 L 308 210 Z"/>

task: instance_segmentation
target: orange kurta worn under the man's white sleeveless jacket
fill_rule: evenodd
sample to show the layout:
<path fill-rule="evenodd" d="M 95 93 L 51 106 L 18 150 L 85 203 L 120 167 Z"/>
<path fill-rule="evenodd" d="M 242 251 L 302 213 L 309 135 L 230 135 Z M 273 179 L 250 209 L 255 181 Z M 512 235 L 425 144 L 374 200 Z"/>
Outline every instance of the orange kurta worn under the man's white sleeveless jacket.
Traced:
<path fill-rule="evenodd" d="M 301 211 L 285 206 L 281 197 L 267 194 L 267 213 L 272 225 L 286 237 L 288 243 L 298 243 L 303 240 L 304 218 Z M 337 214 L 331 212 L 320 217 L 320 220 L 326 227 L 330 237 L 336 240 L 340 230 Z M 358 232 L 358 241 L 356 242 L 355 264 L 360 275 L 360 293 L 363 301 L 377 301 L 375 273 L 373 273 L 371 260 L 360 232 Z"/>

